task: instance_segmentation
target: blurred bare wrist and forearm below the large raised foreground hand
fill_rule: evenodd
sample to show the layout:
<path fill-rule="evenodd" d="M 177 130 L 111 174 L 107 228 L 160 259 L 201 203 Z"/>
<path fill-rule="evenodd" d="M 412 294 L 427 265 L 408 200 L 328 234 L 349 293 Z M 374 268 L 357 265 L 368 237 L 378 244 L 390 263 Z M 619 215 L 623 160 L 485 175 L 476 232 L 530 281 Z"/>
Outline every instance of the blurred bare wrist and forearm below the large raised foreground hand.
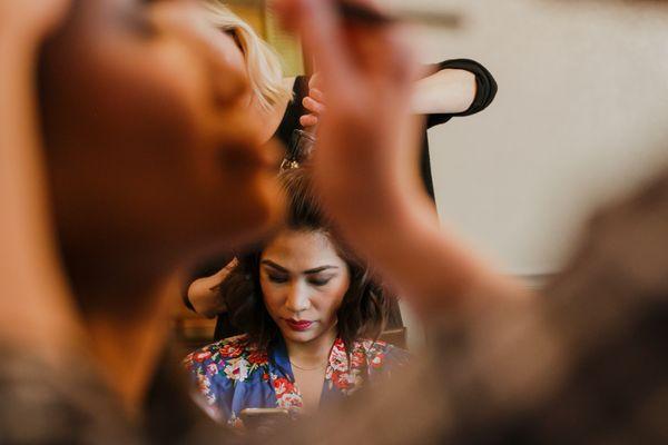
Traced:
<path fill-rule="evenodd" d="M 433 204 L 420 185 L 415 181 L 410 190 L 387 180 L 379 186 L 385 190 L 386 199 L 379 201 L 377 196 L 367 196 L 363 200 L 375 200 L 373 207 L 363 207 L 361 200 L 358 208 L 351 208 L 350 200 L 336 197 L 328 202 L 340 215 L 351 245 L 360 246 L 423 316 L 527 295 L 522 285 L 497 273 L 453 230 L 438 222 Z"/>

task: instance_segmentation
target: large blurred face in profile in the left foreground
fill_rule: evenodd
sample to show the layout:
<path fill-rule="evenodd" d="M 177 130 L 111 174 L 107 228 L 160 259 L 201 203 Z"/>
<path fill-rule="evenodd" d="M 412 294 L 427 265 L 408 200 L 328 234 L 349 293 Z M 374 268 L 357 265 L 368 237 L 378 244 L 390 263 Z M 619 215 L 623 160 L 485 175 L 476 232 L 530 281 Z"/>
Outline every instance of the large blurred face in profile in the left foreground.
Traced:
<path fill-rule="evenodd" d="M 75 1 L 45 49 L 61 239 L 79 254 L 138 260 L 249 240 L 282 201 L 276 154 L 246 119 L 243 58 L 189 1 L 145 3 Z"/>

